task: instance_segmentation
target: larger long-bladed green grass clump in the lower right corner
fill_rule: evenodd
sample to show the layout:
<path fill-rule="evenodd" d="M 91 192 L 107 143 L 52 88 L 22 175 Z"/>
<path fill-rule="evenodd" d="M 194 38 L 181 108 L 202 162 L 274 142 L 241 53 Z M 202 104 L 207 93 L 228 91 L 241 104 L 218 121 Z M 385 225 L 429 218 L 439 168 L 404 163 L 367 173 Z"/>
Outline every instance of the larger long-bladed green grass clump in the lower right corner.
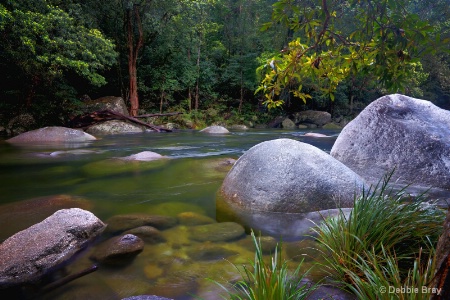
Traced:
<path fill-rule="evenodd" d="M 331 277 L 359 299 L 428 299 L 422 288 L 434 274 L 445 213 L 389 189 L 391 175 L 355 198 L 348 217 L 324 220 L 316 240 Z"/>

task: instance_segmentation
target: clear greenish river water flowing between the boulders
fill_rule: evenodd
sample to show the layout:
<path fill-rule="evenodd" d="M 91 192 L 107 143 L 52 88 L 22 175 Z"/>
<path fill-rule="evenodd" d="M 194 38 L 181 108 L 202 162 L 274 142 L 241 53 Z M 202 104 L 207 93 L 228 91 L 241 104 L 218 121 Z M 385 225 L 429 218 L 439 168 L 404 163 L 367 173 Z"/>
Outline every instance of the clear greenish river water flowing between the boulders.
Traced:
<path fill-rule="evenodd" d="M 176 217 L 183 212 L 217 219 L 216 192 L 231 168 L 230 159 L 276 138 L 306 142 L 329 152 L 338 132 L 318 132 L 332 137 L 305 137 L 305 131 L 300 130 L 249 130 L 227 135 L 196 131 L 115 135 L 71 144 L 17 146 L 0 141 L 0 241 L 41 221 L 55 207 L 73 203 L 103 221 L 119 214 Z M 170 159 L 114 160 L 142 151 Z M 100 266 L 98 271 L 45 298 L 121 299 L 155 294 L 174 299 L 220 299 L 220 288 L 207 278 L 220 283 L 238 279 L 232 263 L 239 265 L 253 259 L 251 239 L 247 236 L 227 242 L 196 242 L 189 239 L 189 230 L 185 225 L 163 230 L 165 242 L 146 244 L 132 263 Z M 271 245 L 269 239 L 266 237 Z M 299 249 L 308 249 L 310 244 L 308 239 L 283 243 L 283 254 L 293 269 L 299 262 Z M 90 251 L 82 253 L 66 271 L 76 272 L 92 265 Z M 311 261 L 307 259 L 306 268 Z"/>

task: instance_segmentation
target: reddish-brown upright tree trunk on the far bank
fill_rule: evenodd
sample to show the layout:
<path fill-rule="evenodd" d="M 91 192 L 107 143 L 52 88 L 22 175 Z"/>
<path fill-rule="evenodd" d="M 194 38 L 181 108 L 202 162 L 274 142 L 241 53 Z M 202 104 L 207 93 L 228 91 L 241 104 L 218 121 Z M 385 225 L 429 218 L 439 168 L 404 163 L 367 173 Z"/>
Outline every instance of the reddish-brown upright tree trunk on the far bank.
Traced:
<path fill-rule="evenodd" d="M 133 17 L 134 15 L 134 17 Z M 143 46 L 143 31 L 141 18 L 139 16 L 138 6 L 134 5 L 132 9 L 128 10 L 127 15 L 127 29 L 128 29 L 128 75 L 130 77 L 130 115 L 136 116 L 139 109 L 139 97 L 137 87 L 137 57 L 139 50 Z M 134 20 L 134 22 L 133 22 Z M 133 23 L 136 23 L 138 28 L 138 40 L 134 44 L 134 30 Z"/>

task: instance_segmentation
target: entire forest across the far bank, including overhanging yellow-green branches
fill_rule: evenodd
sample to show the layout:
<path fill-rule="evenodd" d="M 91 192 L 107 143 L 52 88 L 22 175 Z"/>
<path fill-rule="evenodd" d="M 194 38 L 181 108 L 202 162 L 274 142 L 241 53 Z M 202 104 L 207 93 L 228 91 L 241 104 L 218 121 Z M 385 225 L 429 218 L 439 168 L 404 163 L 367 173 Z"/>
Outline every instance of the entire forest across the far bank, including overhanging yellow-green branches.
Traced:
<path fill-rule="evenodd" d="M 3 0 L 0 126 L 109 95 L 194 127 L 352 118 L 397 92 L 449 109 L 449 25 L 448 0 Z"/>

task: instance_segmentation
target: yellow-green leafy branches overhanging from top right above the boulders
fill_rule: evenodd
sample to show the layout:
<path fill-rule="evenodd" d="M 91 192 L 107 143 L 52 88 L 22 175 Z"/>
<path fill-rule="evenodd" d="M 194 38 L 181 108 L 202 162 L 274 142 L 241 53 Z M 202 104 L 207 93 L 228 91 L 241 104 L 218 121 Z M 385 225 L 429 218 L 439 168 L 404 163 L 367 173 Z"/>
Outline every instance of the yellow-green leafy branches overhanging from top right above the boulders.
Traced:
<path fill-rule="evenodd" d="M 408 12 L 406 0 L 312 2 L 279 0 L 273 6 L 273 21 L 301 39 L 272 59 L 276 69 L 265 68 L 258 91 L 266 95 L 268 107 L 282 100 L 282 91 L 305 102 L 307 93 L 297 87 L 306 80 L 333 101 L 338 85 L 358 73 L 374 76 L 386 91 L 404 91 L 417 57 L 439 42 L 430 38 L 433 27 L 426 20 Z"/>

